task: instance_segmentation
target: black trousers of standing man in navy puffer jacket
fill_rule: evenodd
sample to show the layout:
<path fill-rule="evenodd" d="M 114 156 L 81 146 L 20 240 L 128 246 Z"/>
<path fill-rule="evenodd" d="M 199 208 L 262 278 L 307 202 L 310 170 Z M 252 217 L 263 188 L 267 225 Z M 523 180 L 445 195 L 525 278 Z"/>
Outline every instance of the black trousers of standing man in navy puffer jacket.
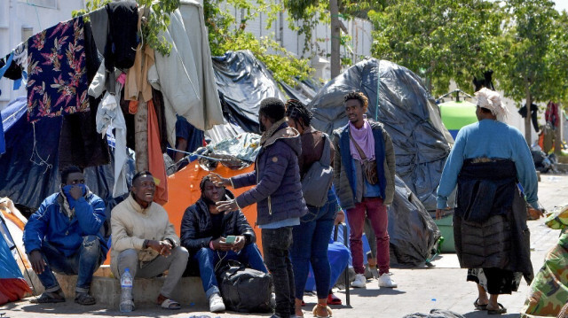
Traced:
<path fill-rule="evenodd" d="M 272 274 L 276 310 L 280 318 L 289 318 L 294 309 L 294 272 L 289 249 L 292 245 L 292 227 L 262 229 L 264 262 Z"/>

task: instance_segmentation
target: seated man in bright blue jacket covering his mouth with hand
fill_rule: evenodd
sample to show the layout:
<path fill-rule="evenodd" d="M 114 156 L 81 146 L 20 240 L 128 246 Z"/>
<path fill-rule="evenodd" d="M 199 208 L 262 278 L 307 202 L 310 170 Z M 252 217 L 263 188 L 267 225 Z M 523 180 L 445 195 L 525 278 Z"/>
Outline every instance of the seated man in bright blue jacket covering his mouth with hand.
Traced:
<path fill-rule="evenodd" d="M 89 295 L 92 275 L 106 259 L 108 247 L 100 232 L 105 202 L 84 184 L 78 167 L 61 172 L 59 192 L 45 198 L 24 228 L 28 259 L 45 292 L 36 303 L 59 303 L 65 295 L 51 272 L 78 275 L 75 302 L 94 305 Z"/>

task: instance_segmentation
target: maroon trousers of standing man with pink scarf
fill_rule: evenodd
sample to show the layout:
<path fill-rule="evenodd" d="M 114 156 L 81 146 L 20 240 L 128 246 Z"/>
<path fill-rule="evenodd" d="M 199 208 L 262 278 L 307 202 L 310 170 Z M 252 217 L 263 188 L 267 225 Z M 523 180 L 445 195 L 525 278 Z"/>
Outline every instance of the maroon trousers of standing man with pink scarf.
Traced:
<path fill-rule="evenodd" d="M 390 237 L 387 232 L 389 216 L 387 214 L 387 206 L 383 205 L 382 198 L 363 198 L 363 202 L 356 203 L 354 208 L 347 210 L 353 268 L 357 274 L 365 273 L 361 237 L 363 236 L 366 215 L 369 221 L 371 221 L 372 228 L 375 230 L 376 261 L 379 274 L 388 273 L 390 268 Z M 370 241 L 373 237 L 367 237 L 367 239 Z"/>

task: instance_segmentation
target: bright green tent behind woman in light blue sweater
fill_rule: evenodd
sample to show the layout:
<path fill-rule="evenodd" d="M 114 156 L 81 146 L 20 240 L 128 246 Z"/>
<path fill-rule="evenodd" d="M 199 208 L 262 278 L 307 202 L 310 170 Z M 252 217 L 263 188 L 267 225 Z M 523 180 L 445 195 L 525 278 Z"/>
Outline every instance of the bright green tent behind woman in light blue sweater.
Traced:
<path fill-rule="evenodd" d="M 442 122 L 454 139 L 462 127 L 477 122 L 476 105 L 473 103 L 464 100 L 451 100 L 438 104 L 438 106 L 440 107 Z"/>

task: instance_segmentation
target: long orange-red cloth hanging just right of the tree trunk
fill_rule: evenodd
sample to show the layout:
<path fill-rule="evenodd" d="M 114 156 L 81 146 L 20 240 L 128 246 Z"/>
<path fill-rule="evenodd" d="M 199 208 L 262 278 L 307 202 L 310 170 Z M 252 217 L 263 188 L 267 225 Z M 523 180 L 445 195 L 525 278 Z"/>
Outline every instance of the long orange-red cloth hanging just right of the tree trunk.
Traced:
<path fill-rule="evenodd" d="M 148 101 L 148 167 L 156 182 L 154 201 L 160 205 L 168 202 L 168 175 L 160 149 L 160 128 L 152 100 Z"/>

